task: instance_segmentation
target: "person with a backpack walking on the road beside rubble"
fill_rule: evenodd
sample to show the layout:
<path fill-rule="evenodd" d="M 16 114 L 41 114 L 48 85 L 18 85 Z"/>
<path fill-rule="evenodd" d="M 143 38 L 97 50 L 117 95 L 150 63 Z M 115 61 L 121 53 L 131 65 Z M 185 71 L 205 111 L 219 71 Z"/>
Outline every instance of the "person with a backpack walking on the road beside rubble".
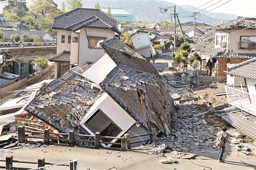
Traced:
<path fill-rule="evenodd" d="M 227 128 L 222 127 L 221 131 L 218 132 L 215 140 L 215 146 L 218 146 L 218 161 L 222 163 L 225 163 L 222 157 L 226 148 L 226 143 L 228 141 L 228 134 L 226 131 Z"/>

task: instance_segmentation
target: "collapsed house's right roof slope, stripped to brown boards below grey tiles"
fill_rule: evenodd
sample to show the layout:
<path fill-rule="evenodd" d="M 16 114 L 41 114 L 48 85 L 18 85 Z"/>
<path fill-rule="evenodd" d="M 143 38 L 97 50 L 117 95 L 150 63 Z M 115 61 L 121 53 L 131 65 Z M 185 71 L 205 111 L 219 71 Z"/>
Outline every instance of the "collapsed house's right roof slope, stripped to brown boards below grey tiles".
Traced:
<path fill-rule="evenodd" d="M 143 127 L 157 128 L 162 132 L 170 127 L 173 105 L 157 75 L 118 66 L 101 85 Z M 138 95 L 140 90 L 143 91 L 143 102 Z"/>

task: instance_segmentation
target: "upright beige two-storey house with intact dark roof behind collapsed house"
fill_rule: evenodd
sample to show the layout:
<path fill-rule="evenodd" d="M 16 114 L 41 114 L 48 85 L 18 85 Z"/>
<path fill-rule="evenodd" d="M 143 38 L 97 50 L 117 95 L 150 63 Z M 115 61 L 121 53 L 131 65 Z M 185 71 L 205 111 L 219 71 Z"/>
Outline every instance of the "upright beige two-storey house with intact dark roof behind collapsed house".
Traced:
<path fill-rule="evenodd" d="M 55 77 L 73 66 L 93 63 L 104 52 L 100 42 L 120 34 L 116 19 L 90 8 L 77 8 L 55 17 L 52 28 L 57 29 L 57 51 L 49 61 L 55 62 Z"/>

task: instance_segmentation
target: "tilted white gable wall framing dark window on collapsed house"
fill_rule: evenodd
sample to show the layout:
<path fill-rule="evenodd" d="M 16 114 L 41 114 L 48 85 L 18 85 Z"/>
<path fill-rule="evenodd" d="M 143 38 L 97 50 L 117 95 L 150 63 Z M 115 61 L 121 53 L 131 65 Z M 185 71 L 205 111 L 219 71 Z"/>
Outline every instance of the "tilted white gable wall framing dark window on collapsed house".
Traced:
<path fill-rule="evenodd" d="M 104 115 L 107 118 L 97 118 L 96 116 L 99 111 L 102 112 L 101 116 Z M 92 124 L 90 121 L 93 122 L 93 125 L 90 125 Z M 121 137 L 135 122 L 136 121 L 132 119 L 113 98 L 109 97 L 108 93 L 104 93 L 99 100 L 92 105 L 80 125 L 91 135 L 94 135 L 95 132 L 100 132 L 100 135 Z M 116 130 L 113 130 L 113 128 Z M 116 140 L 117 139 L 113 139 L 113 141 L 110 142 L 115 143 Z M 102 143 L 102 146 L 109 147 L 111 144 Z"/>

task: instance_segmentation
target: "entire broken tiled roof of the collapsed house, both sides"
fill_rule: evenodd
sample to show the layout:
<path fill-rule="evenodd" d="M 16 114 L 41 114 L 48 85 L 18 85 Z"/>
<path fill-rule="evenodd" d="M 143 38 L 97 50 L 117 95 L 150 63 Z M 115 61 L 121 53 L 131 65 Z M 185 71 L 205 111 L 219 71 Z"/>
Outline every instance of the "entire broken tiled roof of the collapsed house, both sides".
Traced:
<path fill-rule="evenodd" d="M 118 38 L 101 45 L 117 66 L 100 83 L 99 90 L 95 91 L 90 86 L 93 82 L 83 76 L 89 65 L 76 66 L 42 89 L 26 111 L 61 132 L 84 133 L 80 121 L 106 92 L 147 131 L 156 128 L 170 134 L 173 100 L 154 66 Z"/>

